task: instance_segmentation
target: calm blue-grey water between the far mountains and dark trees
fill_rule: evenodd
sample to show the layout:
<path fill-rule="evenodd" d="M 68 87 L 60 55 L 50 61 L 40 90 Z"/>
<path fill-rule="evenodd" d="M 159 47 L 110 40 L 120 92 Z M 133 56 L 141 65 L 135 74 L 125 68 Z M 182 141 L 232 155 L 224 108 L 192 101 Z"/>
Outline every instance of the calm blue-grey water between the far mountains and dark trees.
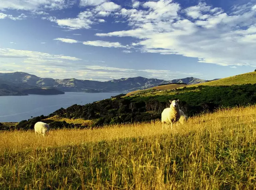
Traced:
<path fill-rule="evenodd" d="M 19 122 L 31 116 L 49 115 L 61 107 L 87 104 L 120 94 L 66 92 L 61 95 L 0 96 L 0 122 Z"/>

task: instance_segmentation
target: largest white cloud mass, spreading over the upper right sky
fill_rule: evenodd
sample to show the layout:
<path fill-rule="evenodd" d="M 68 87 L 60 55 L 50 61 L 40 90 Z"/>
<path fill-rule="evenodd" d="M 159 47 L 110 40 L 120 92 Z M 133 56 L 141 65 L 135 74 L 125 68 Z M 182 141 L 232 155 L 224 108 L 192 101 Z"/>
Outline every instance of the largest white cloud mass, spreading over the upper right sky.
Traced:
<path fill-rule="evenodd" d="M 132 45 L 141 52 L 183 55 L 223 66 L 256 65 L 254 5 L 236 7 L 231 13 L 205 3 L 181 10 L 172 0 L 141 6 L 145 9 L 119 12 L 130 30 L 95 35 L 136 38 Z"/>

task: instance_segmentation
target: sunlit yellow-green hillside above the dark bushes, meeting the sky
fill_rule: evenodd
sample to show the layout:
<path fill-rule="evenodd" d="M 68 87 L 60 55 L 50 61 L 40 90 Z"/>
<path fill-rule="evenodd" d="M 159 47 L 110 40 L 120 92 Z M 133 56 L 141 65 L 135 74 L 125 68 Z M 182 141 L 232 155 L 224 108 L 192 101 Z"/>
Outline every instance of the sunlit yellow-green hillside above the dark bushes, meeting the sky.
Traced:
<path fill-rule="evenodd" d="M 245 73 L 241 75 L 219 79 L 216 81 L 204 82 L 196 85 L 189 85 L 189 87 L 199 86 L 199 85 L 210 85 L 210 86 L 220 85 L 221 86 L 221 85 L 239 85 L 239 84 L 255 84 L 255 83 L 256 83 L 256 72 L 250 72 L 250 73 Z"/>

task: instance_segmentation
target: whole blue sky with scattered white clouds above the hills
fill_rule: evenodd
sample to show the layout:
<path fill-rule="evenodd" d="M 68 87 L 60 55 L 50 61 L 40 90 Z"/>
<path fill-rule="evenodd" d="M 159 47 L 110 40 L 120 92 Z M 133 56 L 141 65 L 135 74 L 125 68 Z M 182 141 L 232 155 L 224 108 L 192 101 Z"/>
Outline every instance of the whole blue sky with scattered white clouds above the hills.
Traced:
<path fill-rule="evenodd" d="M 106 81 L 256 68 L 255 0 L 1 0 L 0 72 Z"/>

